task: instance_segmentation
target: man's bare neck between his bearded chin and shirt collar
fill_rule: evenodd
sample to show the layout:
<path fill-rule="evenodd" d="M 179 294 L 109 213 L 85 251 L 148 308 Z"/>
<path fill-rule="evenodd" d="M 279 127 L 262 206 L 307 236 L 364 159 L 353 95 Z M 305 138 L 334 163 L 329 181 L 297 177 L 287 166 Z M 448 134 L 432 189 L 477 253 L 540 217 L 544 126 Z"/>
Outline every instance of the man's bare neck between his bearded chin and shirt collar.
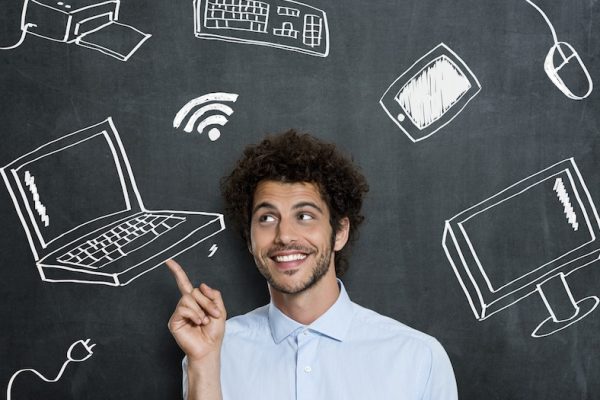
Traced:
<path fill-rule="evenodd" d="M 269 291 L 273 304 L 282 313 L 303 325 L 309 325 L 325 314 L 340 295 L 334 268 L 329 268 L 319 282 L 300 293 L 282 293 L 272 287 L 269 287 Z"/>

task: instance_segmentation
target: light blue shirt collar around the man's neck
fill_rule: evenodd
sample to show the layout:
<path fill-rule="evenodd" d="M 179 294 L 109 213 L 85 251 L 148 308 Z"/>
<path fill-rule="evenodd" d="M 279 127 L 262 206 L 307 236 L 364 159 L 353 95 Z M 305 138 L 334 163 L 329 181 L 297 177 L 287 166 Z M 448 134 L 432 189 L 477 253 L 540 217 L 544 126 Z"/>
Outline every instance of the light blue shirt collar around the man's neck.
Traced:
<path fill-rule="evenodd" d="M 310 325 L 302 325 L 281 312 L 273 302 L 269 304 L 269 327 L 275 343 L 294 333 L 299 328 L 307 328 L 332 339 L 343 341 L 350 328 L 354 310 L 352 301 L 338 279 L 340 295 L 329 309 Z"/>

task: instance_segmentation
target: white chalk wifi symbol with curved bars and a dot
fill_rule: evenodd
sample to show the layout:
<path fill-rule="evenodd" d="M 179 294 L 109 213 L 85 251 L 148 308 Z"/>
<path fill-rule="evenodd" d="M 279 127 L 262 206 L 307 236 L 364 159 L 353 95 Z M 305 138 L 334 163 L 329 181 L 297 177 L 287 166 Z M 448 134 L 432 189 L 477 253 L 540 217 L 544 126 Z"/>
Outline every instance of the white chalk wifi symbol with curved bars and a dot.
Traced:
<path fill-rule="evenodd" d="M 196 109 L 188 119 L 187 124 L 183 128 L 184 131 L 190 133 L 194 130 L 194 125 L 203 118 L 198 123 L 196 130 L 198 133 L 203 133 L 206 128 L 212 125 L 224 126 L 231 114 L 233 114 L 233 109 L 224 102 L 232 102 L 235 103 L 238 95 L 235 93 L 208 93 L 193 100 L 188 101 L 188 103 L 179 110 L 177 115 L 175 115 L 175 119 L 173 120 L 173 127 L 179 128 L 183 120 L 192 112 L 192 110 Z M 199 107 L 199 108 L 198 108 Z M 205 116 L 206 114 L 206 116 Z M 208 131 L 208 137 L 213 142 L 217 140 L 221 136 L 221 131 L 217 127 L 213 127 Z"/>

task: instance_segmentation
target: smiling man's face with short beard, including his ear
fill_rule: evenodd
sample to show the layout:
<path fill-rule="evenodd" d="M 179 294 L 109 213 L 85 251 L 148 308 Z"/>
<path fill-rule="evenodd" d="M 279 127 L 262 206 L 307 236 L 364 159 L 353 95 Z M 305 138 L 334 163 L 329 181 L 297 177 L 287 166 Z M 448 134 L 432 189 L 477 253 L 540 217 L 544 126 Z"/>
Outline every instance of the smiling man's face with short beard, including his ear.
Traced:
<path fill-rule="evenodd" d="M 348 227 L 344 218 L 334 237 L 315 184 L 261 181 L 254 191 L 250 252 L 271 288 L 299 293 L 334 271 L 333 251 L 346 244 Z"/>

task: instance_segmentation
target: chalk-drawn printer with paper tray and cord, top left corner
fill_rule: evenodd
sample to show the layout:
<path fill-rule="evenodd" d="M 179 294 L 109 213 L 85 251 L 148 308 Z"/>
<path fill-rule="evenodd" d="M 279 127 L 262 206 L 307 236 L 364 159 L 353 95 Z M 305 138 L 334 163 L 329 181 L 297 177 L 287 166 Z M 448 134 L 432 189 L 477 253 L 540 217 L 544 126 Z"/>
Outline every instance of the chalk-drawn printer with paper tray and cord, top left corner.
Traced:
<path fill-rule="evenodd" d="M 127 61 L 152 35 L 119 22 L 120 0 L 25 0 L 21 38 L 2 50 L 20 46 L 27 33 L 57 42 L 76 43 Z"/>

